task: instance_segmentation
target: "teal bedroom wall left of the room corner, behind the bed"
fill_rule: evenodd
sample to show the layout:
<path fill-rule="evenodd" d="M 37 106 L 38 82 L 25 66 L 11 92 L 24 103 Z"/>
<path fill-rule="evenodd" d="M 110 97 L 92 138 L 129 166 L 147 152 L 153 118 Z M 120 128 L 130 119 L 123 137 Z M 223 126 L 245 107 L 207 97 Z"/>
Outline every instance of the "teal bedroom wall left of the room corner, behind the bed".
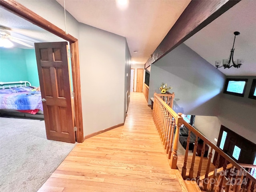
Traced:
<path fill-rule="evenodd" d="M 27 81 L 26 58 L 20 48 L 0 48 L 0 81 Z"/>

